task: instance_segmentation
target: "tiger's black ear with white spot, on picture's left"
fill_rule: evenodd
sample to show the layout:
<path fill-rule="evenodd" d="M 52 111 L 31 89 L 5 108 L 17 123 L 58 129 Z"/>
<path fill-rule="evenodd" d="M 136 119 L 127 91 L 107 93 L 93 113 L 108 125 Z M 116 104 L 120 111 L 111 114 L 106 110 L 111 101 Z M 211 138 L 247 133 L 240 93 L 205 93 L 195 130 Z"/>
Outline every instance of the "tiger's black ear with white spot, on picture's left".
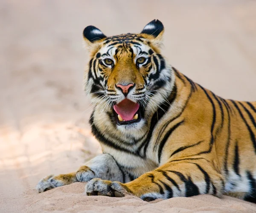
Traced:
<path fill-rule="evenodd" d="M 95 26 L 87 26 L 84 28 L 83 36 L 88 46 L 93 46 L 93 44 L 99 43 L 102 39 L 107 37 Z"/>

